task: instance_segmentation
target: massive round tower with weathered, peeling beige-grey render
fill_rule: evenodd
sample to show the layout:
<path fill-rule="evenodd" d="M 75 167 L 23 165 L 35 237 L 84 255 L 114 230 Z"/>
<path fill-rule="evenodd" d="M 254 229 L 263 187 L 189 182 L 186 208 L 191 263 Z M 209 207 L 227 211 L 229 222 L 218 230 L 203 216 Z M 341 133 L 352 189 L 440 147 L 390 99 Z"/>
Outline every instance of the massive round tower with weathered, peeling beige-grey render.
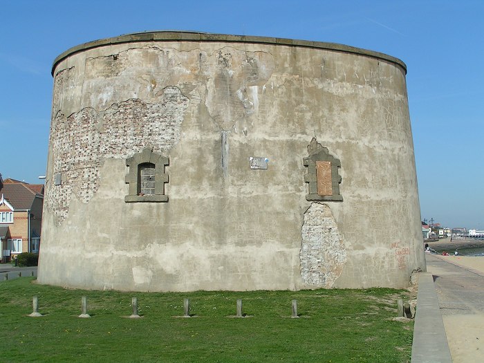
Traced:
<path fill-rule="evenodd" d="M 38 281 L 407 286 L 425 259 L 405 72 L 337 44 L 190 32 L 68 50 L 53 66 Z M 327 149 L 322 174 L 310 145 Z M 132 195 L 143 155 L 165 160 L 153 188 L 167 198 Z M 306 199 L 316 175 L 330 192 Z"/>

